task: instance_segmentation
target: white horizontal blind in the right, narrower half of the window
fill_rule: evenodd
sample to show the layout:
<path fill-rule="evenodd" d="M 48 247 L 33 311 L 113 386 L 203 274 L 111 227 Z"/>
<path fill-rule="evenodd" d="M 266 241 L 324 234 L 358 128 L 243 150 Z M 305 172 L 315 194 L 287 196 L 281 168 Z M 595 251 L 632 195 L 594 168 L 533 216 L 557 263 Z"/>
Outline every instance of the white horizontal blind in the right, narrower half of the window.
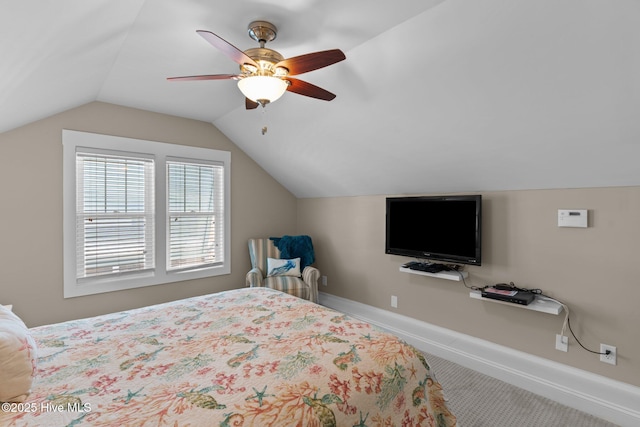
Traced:
<path fill-rule="evenodd" d="M 224 165 L 167 160 L 167 271 L 224 262 Z"/>

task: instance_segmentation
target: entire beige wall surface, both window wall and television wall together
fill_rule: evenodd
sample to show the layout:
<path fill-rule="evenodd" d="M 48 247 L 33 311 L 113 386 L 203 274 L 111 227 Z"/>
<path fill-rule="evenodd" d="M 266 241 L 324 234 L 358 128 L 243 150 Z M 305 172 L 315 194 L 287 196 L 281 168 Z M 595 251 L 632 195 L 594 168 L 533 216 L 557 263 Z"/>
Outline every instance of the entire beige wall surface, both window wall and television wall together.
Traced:
<path fill-rule="evenodd" d="M 64 299 L 62 129 L 230 151 L 232 273 Z M 568 353 L 556 351 L 563 316 L 472 300 L 459 282 L 400 273 L 407 258 L 384 254 L 384 196 L 296 200 L 211 124 L 99 102 L 0 134 L 0 303 L 36 326 L 237 288 L 249 237 L 305 233 L 328 277 L 321 291 L 640 386 L 640 188 L 483 197 L 483 265 L 468 268 L 469 282 L 514 281 L 564 300 L 581 341 L 617 346 L 618 366 L 573 339 Z M 589 228 L 559 229 L 559 208 L 589 209 Z"/>

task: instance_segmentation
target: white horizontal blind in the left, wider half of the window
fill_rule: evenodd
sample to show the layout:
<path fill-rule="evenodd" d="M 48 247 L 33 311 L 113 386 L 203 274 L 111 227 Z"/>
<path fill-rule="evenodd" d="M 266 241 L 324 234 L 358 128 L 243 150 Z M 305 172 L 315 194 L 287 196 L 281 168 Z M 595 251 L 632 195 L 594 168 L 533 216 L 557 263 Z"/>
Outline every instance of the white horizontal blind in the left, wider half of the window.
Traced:
<path fill-rule="evenodd" d="M 76 153 L 76 278 L 154 268 L 154 161 Z"/>

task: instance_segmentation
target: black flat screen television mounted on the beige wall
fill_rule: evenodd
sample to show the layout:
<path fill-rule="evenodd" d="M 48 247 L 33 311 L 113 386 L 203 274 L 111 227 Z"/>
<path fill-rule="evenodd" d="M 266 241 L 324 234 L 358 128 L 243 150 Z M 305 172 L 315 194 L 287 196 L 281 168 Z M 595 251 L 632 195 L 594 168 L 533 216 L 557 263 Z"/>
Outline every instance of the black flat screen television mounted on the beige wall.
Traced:
<path fill-rule="evenodd" d="M 481 247 L 481 195 L 387 198 L 387 254 L 481 265 Z"/>

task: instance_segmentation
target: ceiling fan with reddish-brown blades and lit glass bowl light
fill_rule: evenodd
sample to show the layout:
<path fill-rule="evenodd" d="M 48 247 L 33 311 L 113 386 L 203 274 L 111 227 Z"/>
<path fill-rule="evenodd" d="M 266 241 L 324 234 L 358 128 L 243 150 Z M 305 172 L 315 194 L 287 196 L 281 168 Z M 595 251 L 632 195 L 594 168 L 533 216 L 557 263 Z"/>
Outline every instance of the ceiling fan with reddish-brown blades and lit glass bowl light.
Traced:
<path fill-rule="evenodd" d="M 299 74 L 323 68 L 346 59 L 340 49 L 307 53 L 285 59 L 273 49 L 264 47 L 277 35 L 275 25 L 266 21 L 253 21 L 248 27 L 249 37 L 260 43 L 260 47 L 247 49 L 244 52 L 222 39 L 216 34 L 196 31 L 213 47 L 220 49 L 233 61 L 240 65 L 238 74 L 208 74 L 201 76 L 169 77 L 169 81 L 185 80 L 237 80 L 240 91 L 245 96 L 248 110 L 263 107 L 289 91 L 311 98 L 331 101 L 336 96 L 318 86 L 293 78 Z"/>

